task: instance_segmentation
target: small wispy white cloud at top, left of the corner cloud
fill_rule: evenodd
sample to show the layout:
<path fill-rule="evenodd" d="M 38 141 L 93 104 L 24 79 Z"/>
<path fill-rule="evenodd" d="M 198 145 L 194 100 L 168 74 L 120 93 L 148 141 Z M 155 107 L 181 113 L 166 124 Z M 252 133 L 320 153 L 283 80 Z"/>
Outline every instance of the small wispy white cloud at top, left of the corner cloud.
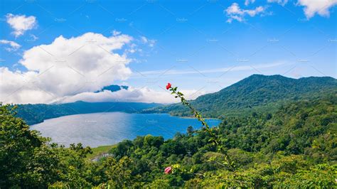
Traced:
<path fill-rule="evenodd" d="M 225 13 L 228 16 L 228 23 L 232 23 L 233 20 L 236 21 L 245 21 L 245 16 L 254 17 L 258 14 L 264 13 L 266 7 L 264 6 L 257 6 L 255 9 L 240 9 L 239 4 L 233 3 L 227 9 L 225 9 Z"/>

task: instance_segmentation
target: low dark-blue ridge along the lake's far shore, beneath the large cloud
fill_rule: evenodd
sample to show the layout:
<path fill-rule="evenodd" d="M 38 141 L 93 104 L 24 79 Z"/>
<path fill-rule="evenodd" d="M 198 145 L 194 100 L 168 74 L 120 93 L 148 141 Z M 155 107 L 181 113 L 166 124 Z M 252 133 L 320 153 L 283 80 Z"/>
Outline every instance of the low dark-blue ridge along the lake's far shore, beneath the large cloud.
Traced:
<path fill-rule="evenodd" d="M 143 109 L 157 107 L 161 104 L 142 102 L 71 102 L 65 104 L 19 104 L 16 116 L 27 124 L 38 124 L 45 119 L 72 114 L 95 112 L 137 113 Z"/>

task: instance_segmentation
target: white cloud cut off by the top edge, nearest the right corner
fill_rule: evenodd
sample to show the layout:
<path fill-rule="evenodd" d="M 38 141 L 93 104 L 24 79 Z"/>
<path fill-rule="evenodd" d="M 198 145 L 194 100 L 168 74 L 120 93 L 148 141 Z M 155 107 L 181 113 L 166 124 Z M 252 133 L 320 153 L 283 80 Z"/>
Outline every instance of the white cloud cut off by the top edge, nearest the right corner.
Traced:
<path fill-rule="evenodd" d="M 328 11 L 332 6 L 337 4 L 337 0 L 299 0 L 298 4 L 304 6 L 306 18 L 311 18 L 318 13 L 320 16 L 330 16 Z"/>

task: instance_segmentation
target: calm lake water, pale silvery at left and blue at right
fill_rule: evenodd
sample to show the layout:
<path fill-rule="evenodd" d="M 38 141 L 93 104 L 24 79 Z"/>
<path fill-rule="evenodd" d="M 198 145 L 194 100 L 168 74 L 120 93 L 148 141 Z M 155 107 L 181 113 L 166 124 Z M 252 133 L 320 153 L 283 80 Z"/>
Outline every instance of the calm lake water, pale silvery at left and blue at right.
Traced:
<path fill-rule="evenodd" d="M 206 119 L 210 126 L 218 126 L 219 119 Z M 116 144 L 124 139 L 151 134 L 169 139 L 177 132 L 186 133 L 188 126 L 200 129 L 197 119 L 171 117 L 169 114 L 127 114 L 107 112 L 77 114 L 55 119 L 46 119 L 31 129 L 41 131 L 53 142 L 68 146 L 82 143 L 84 146 L 103 146 Z"/>

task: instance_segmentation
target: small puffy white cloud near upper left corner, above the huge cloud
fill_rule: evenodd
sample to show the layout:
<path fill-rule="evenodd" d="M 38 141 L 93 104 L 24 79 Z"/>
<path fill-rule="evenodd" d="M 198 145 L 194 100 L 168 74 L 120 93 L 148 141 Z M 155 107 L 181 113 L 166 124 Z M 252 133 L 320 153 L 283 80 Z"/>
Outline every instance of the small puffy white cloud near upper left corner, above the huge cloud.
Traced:
<path fill-rule="evenodd" d="M 9 23 L 11 28 L 14 29 L 13 34 L 16 37 L 21 36 L 26 31 L 33 29 L 37 24 L 35 16 L 14 15 L 11 13 L 6 15 L 6 21 Z"/>

